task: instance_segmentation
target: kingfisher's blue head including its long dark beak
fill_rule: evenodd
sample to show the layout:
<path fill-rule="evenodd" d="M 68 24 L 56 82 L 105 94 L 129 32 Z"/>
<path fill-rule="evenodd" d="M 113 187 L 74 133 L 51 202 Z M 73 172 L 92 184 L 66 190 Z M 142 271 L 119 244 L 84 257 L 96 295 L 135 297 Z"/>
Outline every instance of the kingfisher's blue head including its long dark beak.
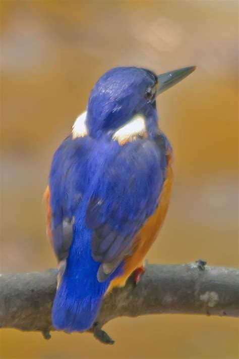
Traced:
<path fill-rule="evenodd" d="M 161 75 L 136 67 L 117 67 L 107 71 L 89 96 L 88 133 L 100 137 L 102 134 L 114 136 L 119 131 L 127 138 L 129 131 L 137 134 L 153 131 L 157 126 L 156 96 L 194 70 L 195 67 L 186 67 Z"/>

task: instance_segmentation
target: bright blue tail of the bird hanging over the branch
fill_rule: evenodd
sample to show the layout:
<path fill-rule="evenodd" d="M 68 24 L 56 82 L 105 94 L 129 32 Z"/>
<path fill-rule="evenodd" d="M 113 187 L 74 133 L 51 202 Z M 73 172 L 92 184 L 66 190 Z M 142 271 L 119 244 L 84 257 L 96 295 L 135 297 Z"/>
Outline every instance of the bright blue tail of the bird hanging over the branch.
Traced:
<path fill-rule="evenodd" d="M 56 291 L 52 323 L 58 330 L 79 332 L 94 323 L 110 279 L 99 283 L 99 263 L 91 256 L 91 231 L 75 226 L 66 271 Z"/>

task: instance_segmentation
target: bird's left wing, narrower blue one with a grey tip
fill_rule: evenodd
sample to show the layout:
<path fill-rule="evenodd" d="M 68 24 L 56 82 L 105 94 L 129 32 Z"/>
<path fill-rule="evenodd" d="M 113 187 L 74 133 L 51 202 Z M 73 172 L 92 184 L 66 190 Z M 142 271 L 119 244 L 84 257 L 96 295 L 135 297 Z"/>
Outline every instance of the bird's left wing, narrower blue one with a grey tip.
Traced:
<path fill-rule="evenodd" d="M 73 239 L 73 216 L 81 205 L 89 138 L 67 137 L 56 150 L 45 192 L 47 233 L 58 262 L 68 257 Z M 81 161 L 76 161 L 80 158 Z M 84 161 L 85 160 L 85 161 Z M 81 176 L 79 176 L 79 173 Z"/>

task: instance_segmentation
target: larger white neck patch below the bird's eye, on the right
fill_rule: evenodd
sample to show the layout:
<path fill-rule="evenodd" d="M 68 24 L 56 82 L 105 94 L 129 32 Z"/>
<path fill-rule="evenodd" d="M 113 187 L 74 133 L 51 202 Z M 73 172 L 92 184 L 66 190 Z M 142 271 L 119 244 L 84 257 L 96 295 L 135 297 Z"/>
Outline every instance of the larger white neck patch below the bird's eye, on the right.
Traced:
<path fill-rule="evenodd" d="M 123 145 L 126 142 L 134 141 L 137 136 L 147 137 L 145 117 L 139 114 L 132 117 L 124 126 L 114 132 L 112 138 Z"/>

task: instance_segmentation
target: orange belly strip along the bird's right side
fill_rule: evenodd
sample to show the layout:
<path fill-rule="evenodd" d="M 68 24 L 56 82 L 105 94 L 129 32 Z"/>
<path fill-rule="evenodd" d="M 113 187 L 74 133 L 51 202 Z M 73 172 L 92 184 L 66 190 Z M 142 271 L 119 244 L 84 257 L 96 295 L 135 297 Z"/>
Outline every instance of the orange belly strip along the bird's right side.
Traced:
<path fill-rule="evenodd" d="M 166 179 L 163 183 L 162 191 L 159 197 L 159 205 L 154 214 L 149 217 L 145 225 L 141 228 L 140 232 L 137 234 L 139 241 L 137 242 L 137 246 L 135 248 L 134 253 L 126 258 L 124 274 L 120 277 L 116 277 L 110 283 L 108 288 L 108 292 L 113 287 L 121 287 L 124 286 L 129 276 L 139 268 L 145 259 L 145 255 L 147 254 L 149 248 L 155 241 L 158 232 L 163 224 L 164 218 L 167 213 L 171 188 L 172 188 L 172 168 L 171 168 L 172 157 L 171 153 L 167 153 L 167 172 Z"/>

